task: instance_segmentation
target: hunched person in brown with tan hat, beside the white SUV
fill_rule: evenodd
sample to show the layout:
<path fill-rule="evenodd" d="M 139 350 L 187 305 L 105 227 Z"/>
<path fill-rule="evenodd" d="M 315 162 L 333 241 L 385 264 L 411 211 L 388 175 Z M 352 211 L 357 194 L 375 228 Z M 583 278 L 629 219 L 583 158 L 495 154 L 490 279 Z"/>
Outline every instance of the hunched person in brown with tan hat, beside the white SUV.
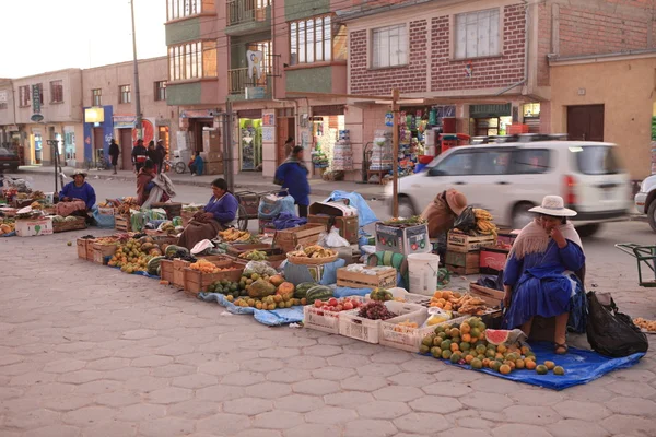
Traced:
<path fill-rule="evenodd" d="M 437 238 L 443 260 L 446 256 L 446 234 L 454 228 L 456 218 L 466 208 L 465 194 L 452 188 L 438 193 L 421 213 L 421 217 L 429 223 L 429 237 Z"/>

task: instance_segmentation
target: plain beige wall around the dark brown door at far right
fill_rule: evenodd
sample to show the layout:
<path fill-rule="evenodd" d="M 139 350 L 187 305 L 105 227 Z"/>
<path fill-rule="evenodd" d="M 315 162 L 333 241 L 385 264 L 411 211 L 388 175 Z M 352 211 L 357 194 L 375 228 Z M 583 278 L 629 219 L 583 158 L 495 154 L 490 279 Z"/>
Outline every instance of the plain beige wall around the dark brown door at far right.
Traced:
<path fill-rule="evenodd" d="M 552 66 L 551 131 L 567 131 L 567 106 L 604 104 L 604 140 L 620 145 L 632 179 L 645 178 L 651 174 L 655 70 L 656 56 Z"/>

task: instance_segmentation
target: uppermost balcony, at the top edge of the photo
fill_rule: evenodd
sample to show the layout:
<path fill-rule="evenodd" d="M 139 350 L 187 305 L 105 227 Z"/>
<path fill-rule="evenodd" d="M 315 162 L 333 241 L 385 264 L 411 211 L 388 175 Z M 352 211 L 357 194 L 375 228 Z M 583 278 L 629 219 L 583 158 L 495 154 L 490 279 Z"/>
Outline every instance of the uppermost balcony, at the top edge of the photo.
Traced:
<path fill-rule="evenodd" d="M 225 34 L 247 35 L 271 28 L 271 0 L 227 0 Z"/>

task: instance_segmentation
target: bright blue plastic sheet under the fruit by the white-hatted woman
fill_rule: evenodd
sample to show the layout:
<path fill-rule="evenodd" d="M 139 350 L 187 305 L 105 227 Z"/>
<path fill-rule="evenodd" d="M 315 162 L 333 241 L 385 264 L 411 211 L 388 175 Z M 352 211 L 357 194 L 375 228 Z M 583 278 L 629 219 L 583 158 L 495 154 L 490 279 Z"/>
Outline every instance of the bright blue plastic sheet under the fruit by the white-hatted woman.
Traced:
<path fill-rule="evenodd" d="M 501 375 L 492 369 L 477 371 L 551 390 L 563 390 L 569 387 L 588 383 L 610 371 L 634 366 L 645 355 L 644 353 L 640 353 L 622 358 L 610 358 L 599 355 L 595 351 L 585 351 L 576 347 L 570 347 L 569 353 L 564 355 L 557 355 L 553 352 L 553 344 L 551 343 L 531 343 L 530 347 L 538 358 L 538 364 L 548 361 L 554 362 L 557 366 L 562 366 L 565 369 L 565 375 L 558 376 L 551 371 L 547 375 L 538 375 L 535 370 L 513 370 L 508 375 Z M 443 363 L 471 369 L 469 365 L 453 364 L 449 361 L 443 361 Z"/>

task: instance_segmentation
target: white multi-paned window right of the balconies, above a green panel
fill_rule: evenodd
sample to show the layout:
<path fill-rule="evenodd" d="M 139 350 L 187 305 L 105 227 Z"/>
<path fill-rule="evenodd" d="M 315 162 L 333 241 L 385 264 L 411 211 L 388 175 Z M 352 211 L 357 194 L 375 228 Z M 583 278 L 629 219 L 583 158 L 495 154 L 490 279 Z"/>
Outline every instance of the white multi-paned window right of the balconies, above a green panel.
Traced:
<path fill-rule="evenodd" d="M 332 37 L 330 15 L 290 23 L 290 64 L 329 62 Z"/>

